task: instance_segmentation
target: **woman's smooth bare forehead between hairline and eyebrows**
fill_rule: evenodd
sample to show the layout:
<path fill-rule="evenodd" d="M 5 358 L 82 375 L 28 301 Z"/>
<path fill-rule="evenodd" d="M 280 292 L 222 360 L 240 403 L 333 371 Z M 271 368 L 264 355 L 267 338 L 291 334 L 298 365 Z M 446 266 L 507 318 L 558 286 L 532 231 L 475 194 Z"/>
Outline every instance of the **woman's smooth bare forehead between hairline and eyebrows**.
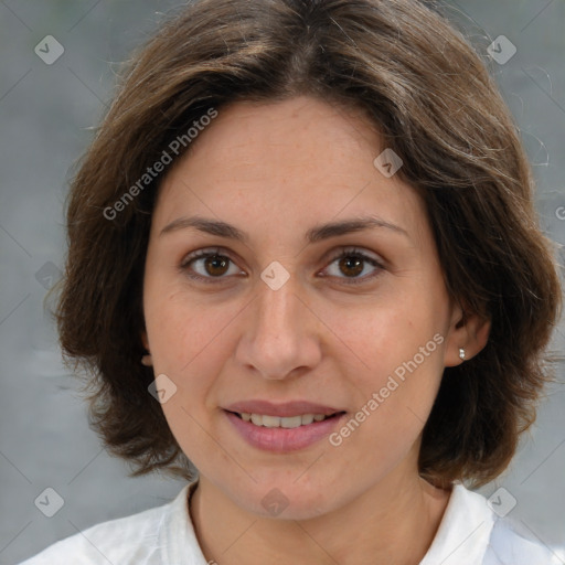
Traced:
<path fill-rule="evenodd" d="M 384 149 L 374 125 L 351 108 L 309 97 L 236 103 L 218 110 L 163 179 L 153 222 L 199 213 L 303 232 L 321 218 L 370 212 L 417 232 L 423 203 L 375 168 Z"/>

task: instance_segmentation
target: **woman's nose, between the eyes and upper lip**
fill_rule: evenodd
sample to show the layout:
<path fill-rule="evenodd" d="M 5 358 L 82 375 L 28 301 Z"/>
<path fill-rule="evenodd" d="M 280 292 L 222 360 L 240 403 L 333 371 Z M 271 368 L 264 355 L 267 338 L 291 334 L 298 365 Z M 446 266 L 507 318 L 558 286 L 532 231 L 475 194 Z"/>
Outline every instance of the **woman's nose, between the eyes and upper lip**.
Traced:
<path fill-rule="evenodd" d="M 321 359 L 321 326 L 296 277 L 277 290 L 259 279 L 257 295 L 247 308 L 236 360 L 268 380 L 308 373 Z"/>

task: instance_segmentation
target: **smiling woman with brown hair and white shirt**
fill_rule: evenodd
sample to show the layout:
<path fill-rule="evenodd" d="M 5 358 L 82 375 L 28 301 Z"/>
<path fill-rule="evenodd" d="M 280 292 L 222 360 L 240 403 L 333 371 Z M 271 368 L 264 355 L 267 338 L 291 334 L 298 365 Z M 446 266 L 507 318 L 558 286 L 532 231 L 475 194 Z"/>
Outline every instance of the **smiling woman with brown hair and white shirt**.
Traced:
<path fill-rule="evenodd" d="M 57 312 L 108 448 L 189 482 L 25 563 L 558 563 L 463 486 L 548 379 L 532 186 L 422 2 L 191 2 L 74 180 Z"/>

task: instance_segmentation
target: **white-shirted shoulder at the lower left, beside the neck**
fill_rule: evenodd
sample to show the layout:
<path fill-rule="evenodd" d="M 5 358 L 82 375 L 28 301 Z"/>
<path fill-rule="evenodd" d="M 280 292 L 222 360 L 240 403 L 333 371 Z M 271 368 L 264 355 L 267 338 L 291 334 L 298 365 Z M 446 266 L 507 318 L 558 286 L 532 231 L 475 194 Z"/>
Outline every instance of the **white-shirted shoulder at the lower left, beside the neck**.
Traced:
<path fill-rule="evenodd" d="M 162 563 L 163 526 L 180 510 L 185 486 L 178 497 L 161 507 L 96 524 L 54 543 L 20 565 L 152 565 Z"/>

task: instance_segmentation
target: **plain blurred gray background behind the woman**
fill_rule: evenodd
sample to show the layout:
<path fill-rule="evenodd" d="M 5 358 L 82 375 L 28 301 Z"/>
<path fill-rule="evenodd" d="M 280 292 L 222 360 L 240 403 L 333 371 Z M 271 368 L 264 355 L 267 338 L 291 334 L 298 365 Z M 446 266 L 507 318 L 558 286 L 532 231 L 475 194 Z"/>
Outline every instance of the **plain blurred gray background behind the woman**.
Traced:
<path fill-rule="evenodd" d="M 542 224 L 565 244 L 565 1 L 449 2 L 486 55 L 503 34 L 516 46 L 490 63 L 514 114 L 540 184 Z M 156 29 L 172 1 L 0 1 L 0 564 L 14 564 L 56 540 L 160 505 L 180 482 L 131 479 L 89 430 L 76 382 L 62 366 L 43 310 L 65 254 L 63 205 L 70 168 L 109 102 L 118 63 Z M 45 64 L 34 47 L 54 35 L 64 54 Z M 561 264 L 565 254 L 561 252 Z M 565 350 L 563 323 L 554 348 Z M 490 497 L 504 487 L 509 516 L 565 563 L 565 386 L 547 390 L 535 426 Z M 34 500 L 54 488 L 65 503 L 53 518 Z M 509 499 L 505 503 L 508 503 Z"/>

